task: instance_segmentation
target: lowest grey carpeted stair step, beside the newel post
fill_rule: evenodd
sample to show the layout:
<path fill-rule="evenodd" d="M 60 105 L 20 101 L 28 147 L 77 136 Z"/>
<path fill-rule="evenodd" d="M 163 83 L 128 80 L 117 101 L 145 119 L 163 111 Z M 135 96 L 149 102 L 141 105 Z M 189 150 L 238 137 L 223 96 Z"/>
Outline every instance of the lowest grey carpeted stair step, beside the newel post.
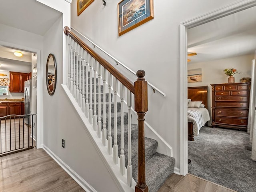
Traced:
<path fill-rule="evenodd" d="M 170 177 L 174 170 L 175 159 L 167 155 L 155 153 L 145 161 L 146 166 L 146 184 L 148 191 L 157 192 L 164 184 L 165 180 Z M 132 169 L 134 180 L 138 181 L 138 167 Z M 161 178 L 161 179 L 160 179 Z"/>

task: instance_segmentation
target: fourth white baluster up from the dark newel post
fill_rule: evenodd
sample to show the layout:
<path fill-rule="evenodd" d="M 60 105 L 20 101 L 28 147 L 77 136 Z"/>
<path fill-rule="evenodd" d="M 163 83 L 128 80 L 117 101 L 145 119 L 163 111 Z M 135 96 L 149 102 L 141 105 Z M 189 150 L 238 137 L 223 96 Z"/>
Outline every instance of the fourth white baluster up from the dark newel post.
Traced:
<path fill-rule="evenodd" d="M 112 74 L 108 75 L 108 154 L 112 154 L 112 136 L 111 136 L 111 86 Z"/>

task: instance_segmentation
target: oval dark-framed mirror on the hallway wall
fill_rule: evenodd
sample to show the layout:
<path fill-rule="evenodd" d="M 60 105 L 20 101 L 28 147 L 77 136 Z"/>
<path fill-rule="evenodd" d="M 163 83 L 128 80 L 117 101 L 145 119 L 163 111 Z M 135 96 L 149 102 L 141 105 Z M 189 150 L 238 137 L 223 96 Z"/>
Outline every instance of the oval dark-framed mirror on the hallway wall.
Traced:
<path fill-rule="evenodd" d="M 57 80 L 57 66 L 53 54 L 49 54 L 46 63 L 46 86 L 50 95 L 54 94 Z"/>

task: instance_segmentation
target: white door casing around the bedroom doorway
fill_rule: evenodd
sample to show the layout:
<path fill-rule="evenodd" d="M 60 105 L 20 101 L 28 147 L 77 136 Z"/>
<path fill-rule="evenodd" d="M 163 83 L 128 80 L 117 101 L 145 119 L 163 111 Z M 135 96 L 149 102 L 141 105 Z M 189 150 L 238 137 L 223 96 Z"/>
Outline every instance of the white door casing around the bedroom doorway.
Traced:
<path fill-rule="evenodd" d="M 188 28 L 222 18 L 256 6 L 256 0 L 235 2 L 180 24 L 180 174 L 188 174 L 188 126 L 187 126 L 187 33 Z M 186 86 L 185 86 L 186 85 Z"/>

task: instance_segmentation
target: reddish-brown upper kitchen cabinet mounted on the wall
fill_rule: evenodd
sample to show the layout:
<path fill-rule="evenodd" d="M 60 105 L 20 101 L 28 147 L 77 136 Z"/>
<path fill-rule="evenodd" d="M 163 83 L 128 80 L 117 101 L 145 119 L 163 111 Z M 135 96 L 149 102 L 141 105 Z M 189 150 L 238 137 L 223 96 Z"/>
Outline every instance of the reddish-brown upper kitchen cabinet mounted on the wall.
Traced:
<path fill-rule="evenodd" d="M 10 71 L 10 92 L 24 93 L 24 82 L 28 79 L 28 73 Z"/>

